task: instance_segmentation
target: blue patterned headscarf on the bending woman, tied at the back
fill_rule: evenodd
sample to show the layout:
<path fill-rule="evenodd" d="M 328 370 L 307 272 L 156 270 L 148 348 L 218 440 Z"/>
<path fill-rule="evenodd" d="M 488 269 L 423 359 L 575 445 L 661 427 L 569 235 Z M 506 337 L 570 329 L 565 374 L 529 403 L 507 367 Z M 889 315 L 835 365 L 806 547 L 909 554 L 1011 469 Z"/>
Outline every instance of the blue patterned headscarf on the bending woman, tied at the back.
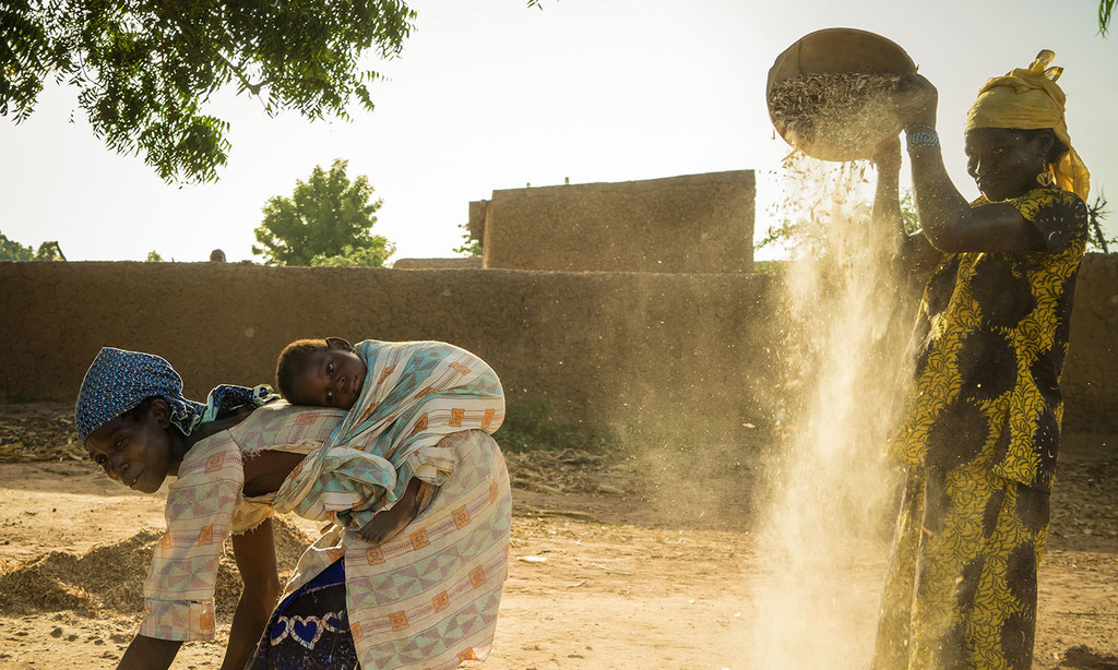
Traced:
<path fill-rule="evenodd" d="M 216 419 L 221 410 L 245 404 L 258 406 L 277 398 L 271 391 L 268 386 L 221 385 L 210 391 L 209 401 L 202 404 L 182 395 L 182 377 L 164 358 L 106 346 L 85 373 L 74 419 L 78 439 L 85 443 L 93 431 L 144 399 L 161 398 L 171 408 L 171 423 L 189 436 L 200 423 Z"/>

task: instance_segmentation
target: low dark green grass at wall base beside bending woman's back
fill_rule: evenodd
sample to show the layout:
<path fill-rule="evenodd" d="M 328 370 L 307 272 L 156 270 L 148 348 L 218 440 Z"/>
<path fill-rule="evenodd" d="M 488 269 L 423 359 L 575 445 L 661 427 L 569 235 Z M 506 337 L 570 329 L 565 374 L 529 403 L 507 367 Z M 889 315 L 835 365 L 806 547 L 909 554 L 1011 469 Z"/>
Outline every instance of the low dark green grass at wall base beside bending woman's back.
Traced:
<path fill-rule="evenodd" d="M 501 448 L 508 451 L 536 449 L 577 449 L 603 451 L 615 447 L 615 436 L 589 428 L 581 422 L 567 421 L 555 415 L 546 400 L 510 402 L 505 408 L 504 423 L 496 434 Z"/>

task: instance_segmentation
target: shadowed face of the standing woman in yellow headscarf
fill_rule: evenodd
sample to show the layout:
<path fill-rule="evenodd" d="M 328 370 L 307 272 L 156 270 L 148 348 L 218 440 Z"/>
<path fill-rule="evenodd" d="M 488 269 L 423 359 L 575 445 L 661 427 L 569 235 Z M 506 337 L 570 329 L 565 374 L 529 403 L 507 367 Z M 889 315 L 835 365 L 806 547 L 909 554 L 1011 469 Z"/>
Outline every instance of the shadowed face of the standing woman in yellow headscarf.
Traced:
<path fill-rule="evenodd" d="M 1036 175 L 1046 169 L 1051 135 L 1011 128 L 967 131 L 967 174 L 991 202 L 1024 195 L 1040 184 Z"/>

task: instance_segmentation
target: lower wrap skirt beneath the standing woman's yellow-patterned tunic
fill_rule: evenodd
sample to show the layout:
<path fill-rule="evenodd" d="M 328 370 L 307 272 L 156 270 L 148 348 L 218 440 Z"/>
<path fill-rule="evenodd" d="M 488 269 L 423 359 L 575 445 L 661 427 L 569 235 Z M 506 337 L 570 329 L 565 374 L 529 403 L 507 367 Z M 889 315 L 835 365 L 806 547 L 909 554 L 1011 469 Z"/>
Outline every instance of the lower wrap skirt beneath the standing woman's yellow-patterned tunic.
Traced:
<path fill-rule="evenodd" d="M 911 667 L 1027 670 L 1048 494 L 984 466 L 934 469 L 923 516 Z"/>

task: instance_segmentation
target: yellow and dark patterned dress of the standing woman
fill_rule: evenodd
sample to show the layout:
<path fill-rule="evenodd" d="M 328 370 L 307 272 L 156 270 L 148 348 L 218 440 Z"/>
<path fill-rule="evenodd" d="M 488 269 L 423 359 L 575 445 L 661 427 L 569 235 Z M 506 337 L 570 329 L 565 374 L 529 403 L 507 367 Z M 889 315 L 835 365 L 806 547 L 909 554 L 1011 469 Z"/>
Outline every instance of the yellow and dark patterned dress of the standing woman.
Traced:
<path fill-rule="evenodd" d="M 1049 188 L 1006 202 L 1046 249 L 948 255 L 920 305 L 915 387 L 890 444 L 908 478 L 877 669 L 1032 663 L 1087 207 Z"/>

